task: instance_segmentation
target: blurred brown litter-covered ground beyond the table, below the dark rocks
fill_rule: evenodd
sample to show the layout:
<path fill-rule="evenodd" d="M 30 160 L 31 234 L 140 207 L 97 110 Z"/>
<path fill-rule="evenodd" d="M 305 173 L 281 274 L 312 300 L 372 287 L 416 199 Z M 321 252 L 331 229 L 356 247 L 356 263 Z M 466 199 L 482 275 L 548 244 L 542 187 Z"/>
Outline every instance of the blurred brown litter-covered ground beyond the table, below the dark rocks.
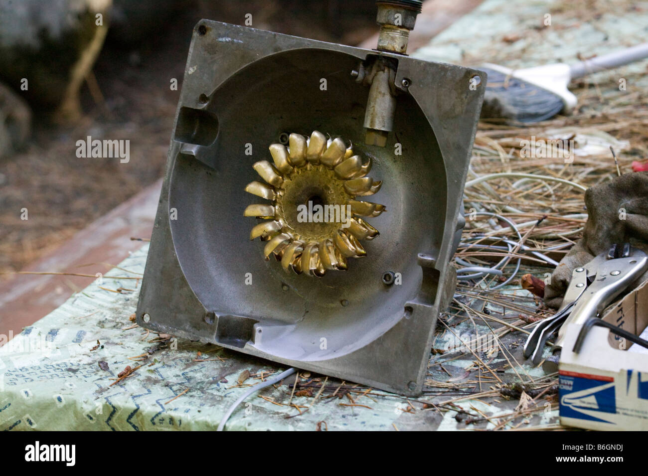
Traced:
<path fill-rule="evenodd" d="M 179 96 L 170 78 L 181 87 L 200 18 L 243 24 L 251 12 L 254 27 L 349 45 L 377 31 L 372 0 L 189 5 L 163 24 L 163 34 L 133 42 L 109 33 L 93 68 L 98 88 L 88 87 L 92 76 L 82 87 L 80 122 L 54 126 L 33 111 L 27 149 L 0 160 L 0 272 L 25 267 L 163 175 Z M 130 139 L 130 161 L 76 157 L 76 141 L 88 135 Z M 25 208 L 28 220 L 21 220 Z"/>

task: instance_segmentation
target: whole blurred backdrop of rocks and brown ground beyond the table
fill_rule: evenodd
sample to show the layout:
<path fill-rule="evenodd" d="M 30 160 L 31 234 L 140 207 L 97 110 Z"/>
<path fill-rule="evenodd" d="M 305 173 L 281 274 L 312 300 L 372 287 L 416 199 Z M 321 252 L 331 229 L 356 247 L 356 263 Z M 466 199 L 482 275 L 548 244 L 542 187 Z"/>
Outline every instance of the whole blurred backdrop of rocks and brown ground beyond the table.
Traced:
<path fill-rule="evenodd" d="M 246 14 L 348 45 L 378 30 L 373 0 L 0 0 L 0 271 L 162 176 L 192 28 Z M 77 158 L 88 135 L 129 139 L 130 162 Z"/>

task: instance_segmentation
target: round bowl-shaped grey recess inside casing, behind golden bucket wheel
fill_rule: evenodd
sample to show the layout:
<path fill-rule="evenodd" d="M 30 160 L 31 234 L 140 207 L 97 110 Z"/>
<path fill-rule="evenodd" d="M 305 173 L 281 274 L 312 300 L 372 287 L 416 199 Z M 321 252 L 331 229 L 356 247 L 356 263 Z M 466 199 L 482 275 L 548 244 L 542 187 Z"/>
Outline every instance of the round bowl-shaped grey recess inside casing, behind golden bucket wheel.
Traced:
<path fill-rule="evenodd" d="M 252 63 L 209 96 L 209 124 L 196 129 L 200 160 L 184 153 L 175 158 L 169 207 L 178 213 L 170 227 L 187 282 L 217 316 L 258 321 L 253 329 L 241 321 L 252 339 L 247 345 L 286 359 L 342 356 L 384 334 L 404 318 L 405 302 L 421 298 L 417 254 L 441 245 L 446 177 L 434 132 L 415 99 L 403 94 L 387 146 L 365 146 L 368 88 L 349 74 L 359 60 L 298 49 Z M 383 185 L 367 199 L 386 206 L 380 216 L 366 219 L 380 231 L 363 242 L 367 256 L 322 278 L 286 273 L 274 258 L 264 260 L 264 243 L 249 240 L 260 220 L 243 216 L 249 204 L 263 202 L 244 191 L 258 179 L 253 163 L 272 161 L 268 146 L 281 133 L 308 137 L 314 130 L 343 137 L 356 153 L 372 158 L 370 175 Z M 191 142 L 191 134 L 179 139 Z M 402 155 L 395 155 L 395 142 Z M 246 155 L 246 144 L 252 155 Z M 400 273 L 402 284 L 384 284 L 387 271 Z M 236 317 L 227 317 L 227 327 L 225 321 L 222 332 L 214 331 L 216 341 L 236 328 Z"/>

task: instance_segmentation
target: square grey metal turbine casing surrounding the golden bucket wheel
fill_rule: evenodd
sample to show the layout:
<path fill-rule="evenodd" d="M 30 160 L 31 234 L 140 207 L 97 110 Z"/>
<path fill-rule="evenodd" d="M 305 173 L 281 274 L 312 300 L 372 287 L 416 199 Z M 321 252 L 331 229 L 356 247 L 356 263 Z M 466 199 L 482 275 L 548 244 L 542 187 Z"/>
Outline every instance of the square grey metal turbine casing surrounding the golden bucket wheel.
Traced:
<path fill-rule="evenodd" d="M 395 81 L 406 76 L 409 93 L 397 97 L 386 147 L 368 146 L 369 90 L 350 73 L 371 52 L 202 23 L 187 62 L 193 72 L 183 82 L 138 304 L 137 315 L 152 317 L 138 322 L 299 368 L 420 392 L 439 306 L 454 288 L 448 261 L 481 104 L 481 93 L 465 85 L 478 72 L 400 59 Z M 434 90 L 444 84 L 443 95 Z M 249 240 L 262 220 L 243 216 L 259 203 L 245 192 L 258 179 L 253 164 L 272 162 L 268 146 L 286 144 L 288 134 L 313 131 L 341 137 L 371 159 L 371 178 L 382 188 L 364 199 L 386 207 L 367 219 L 380 231 L 363 242 L 367 255 L 321 277 L 264 259 L 264 242 Z M 318 190 L 304 193 L 305 200 L 322 198 Z"/>

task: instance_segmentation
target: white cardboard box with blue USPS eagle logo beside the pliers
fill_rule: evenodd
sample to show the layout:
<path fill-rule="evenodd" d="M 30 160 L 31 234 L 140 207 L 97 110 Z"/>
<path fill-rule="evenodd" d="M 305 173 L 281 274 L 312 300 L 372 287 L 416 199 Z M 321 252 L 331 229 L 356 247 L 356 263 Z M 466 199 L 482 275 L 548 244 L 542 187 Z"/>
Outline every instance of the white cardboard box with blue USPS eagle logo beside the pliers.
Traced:
<path fill-rule="evenodd" d="M 648 282 L 603 312 L 603 319 L 642 334 L 648 326 Z M 648 354 L 593 326 L 581 351 L 572 349 L 581 330 L 568 324 L 559 363 L 561 424 L 593 430 L 648 430 Z M 629 351 L 628 349 L 631 348 Z"/>

